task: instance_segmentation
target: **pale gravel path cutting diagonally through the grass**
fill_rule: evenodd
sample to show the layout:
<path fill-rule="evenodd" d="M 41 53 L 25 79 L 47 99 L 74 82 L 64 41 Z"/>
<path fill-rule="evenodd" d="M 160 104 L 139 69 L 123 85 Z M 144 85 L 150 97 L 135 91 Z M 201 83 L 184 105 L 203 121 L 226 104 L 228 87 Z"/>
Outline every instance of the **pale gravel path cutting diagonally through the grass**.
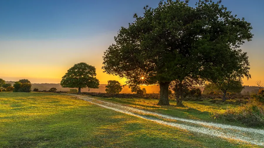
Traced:
<path fill-rule="evenodd" d="M 246 143 L 264 146 L 264 130 L 254 129 L 254 128 L 243 128 L 243 127 L 238 127 L 238 126 L 233 126 L 233 125 L 210 123 L 210 122 L 184 119 L 184 118 L 177 118 L 173 116 L 163 115 L 163 114 L 154 113 L 151 111 L 145 111 L 142 109 L 129 107 L 126 105 L 121 105 L 118 103 L 102 101 L 102 100 L 94 99 L 91 97 L 75 95 L 75 94 L 68 94 L 68 95 L 78 97 L 92 104 L 96 104 L 98 106 L 101 106 L 107 109 L 111 109 L 117 112 L 136 116 L 136 117 L 150 120 L 156 123 L 170 125 L 170 126 L 185 129 L 191 132 L 199 132 L 199 133 L 210 135 L 210 136 L 221 137 L 221 138 L 229 139 L 229 140 L 233 139 L 233 140 L 238 140 L 240 142 L 246 142 Z M 152 115 L 157 118 L 150 118 L 147 115 Z M 162 119 L 163 120 L 170 119 L 173 121 L 167 122 L 167 121 L 163 121 Z M 177 121 L 181 121 L 183 123 L 177 123 Z"/>

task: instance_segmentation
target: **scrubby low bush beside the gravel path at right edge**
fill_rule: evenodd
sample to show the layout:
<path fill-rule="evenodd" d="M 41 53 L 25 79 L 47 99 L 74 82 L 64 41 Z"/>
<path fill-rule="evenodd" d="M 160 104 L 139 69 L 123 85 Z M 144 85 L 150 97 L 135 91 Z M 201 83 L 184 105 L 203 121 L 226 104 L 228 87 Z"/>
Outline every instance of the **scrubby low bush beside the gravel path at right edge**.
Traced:
<path fill-rule="evenodd" d="M 227 121 L 238 121 L 248 126 L 264 126 L 264 107 L 256 100 L 236 108 L 214 113 L 213 116 Z"/>

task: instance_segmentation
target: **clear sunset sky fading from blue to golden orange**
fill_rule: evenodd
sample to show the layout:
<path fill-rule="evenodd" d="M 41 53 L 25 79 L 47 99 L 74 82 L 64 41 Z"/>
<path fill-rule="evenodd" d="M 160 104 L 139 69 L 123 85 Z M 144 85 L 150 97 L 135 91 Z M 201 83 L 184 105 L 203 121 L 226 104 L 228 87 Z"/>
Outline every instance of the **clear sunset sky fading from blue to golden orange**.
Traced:
<path fill-rule="evenodd" d="M 60 83 L 76 63 L 95 66 L 100 84 L 123 79 L 103 73 L 104 51 L 114 43 L 121 26 L 143 15 L 143 7 L 160 0 L 12 0 L 0 1 L 0 78 L 29 79 L 32 83 Z M 190 0 L 195 6 L 197 0 Z M 254 37 L 241 49 L 248 53 L 251 79 L 264 82 L 264 1 L 222 0 L 222 4 L 253 26 Z"/>

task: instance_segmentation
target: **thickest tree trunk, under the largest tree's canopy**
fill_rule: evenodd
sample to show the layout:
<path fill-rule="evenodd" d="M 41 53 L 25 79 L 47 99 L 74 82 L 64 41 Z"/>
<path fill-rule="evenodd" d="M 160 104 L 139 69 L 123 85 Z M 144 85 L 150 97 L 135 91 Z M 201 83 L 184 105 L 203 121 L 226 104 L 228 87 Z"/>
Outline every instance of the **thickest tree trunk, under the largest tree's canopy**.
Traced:
<path fill-rule="evenodd" d="M 169 85 L 170 82 L 160 82 L 160 101 L 158 105 L 170 105 L 168 95 Z"/>

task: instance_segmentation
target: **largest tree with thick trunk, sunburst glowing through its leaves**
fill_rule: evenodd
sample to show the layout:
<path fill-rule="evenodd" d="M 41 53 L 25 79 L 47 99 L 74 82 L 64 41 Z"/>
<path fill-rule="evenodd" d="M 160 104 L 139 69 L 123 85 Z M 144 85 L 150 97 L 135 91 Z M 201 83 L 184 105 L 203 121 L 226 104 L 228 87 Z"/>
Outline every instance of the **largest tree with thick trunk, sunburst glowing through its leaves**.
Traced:
<path fill-rule="evenodd" d="M 226 55 L 250 41 L 251 24 L 220 5 L 200 0 L 160 1 L 144 7 L 144 15 L 121 27 L 104 53 L 102 67 L 108 74 L 127 79 L 127 84 L 160 85 L 160 105 L 169 105 L 168 87 L 188 75 L 209 77 L 207 71 L 221 65 Z"/>

